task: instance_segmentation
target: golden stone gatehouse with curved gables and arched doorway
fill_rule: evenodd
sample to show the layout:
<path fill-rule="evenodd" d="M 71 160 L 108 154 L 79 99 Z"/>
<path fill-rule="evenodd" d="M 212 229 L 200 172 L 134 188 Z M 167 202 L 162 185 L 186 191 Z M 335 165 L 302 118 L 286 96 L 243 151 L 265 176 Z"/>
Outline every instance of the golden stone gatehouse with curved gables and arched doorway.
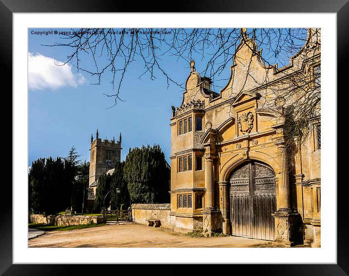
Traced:
<path fill-rule="evenodd" d="M 173 107 L 171 225 L 319 247 L 320 107 L 293 159 L 283 111 L 304 100 L 287 97 L 292 85 L 320 91 L 320 30 L 308 30 L 283 68 L 265 65 L 241 32 L 226 87 L 213 92 L 192 61 L 183 102 Z"/>

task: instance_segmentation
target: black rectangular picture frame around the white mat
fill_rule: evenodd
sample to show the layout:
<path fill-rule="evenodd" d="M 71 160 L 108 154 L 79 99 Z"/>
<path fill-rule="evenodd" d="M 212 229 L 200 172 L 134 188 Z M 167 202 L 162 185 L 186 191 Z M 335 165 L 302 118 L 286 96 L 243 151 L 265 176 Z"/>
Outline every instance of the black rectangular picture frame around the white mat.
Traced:
<path fill-rule="evenodd" d="M 3 83 L 9 85 L 7 91 L 12 91 L 12 18 L 13 13 L 53 13 L 53 12 L 168 12 L 167 5 L 163 1 L 144 2 L 143 4 L 130 5 L 127 1 L 107 1 L 107 0 L 0 0 L 0 21 L 1 21 L 1 43 L 0 56 L 2 66 L 5 67 L 2 78 Z M 201 0 L 199 3 L 194 1 L 179 1 L 171 5 L 171 12 L 272 12 L 272 13 L 336 13 L 337 15 L 337 81 L 338 89 L 343 88 L 347 91 L 345 81 L 348 79 L 349 36 L 347 28 L 349 27 L 349 3 L 348 0 L 244 0 L 244 1 L 209 1 Z M 5 90 L 4 90 L 5 91 Z M 339 91 L 339 90 L 338 90 Z M 8 92 L 7 92 L 8 93 Z M 333 97 L 337 97 L 336 91 L 332 91 Z M 9 93 L 8 93 L 9 94 Z M 12 97 L 9 97 L 12 102 Z M 337 109 L 340 110 L 340 109 Z M 337 116 L 338 118 L 339 116 Z M 10 129 L 10 128 L 9 128 Z M 7 129 L 7 130 L 9 130 Z M 6 132 L 7 137 L 10 131 Z M 336 138 L 336 135 L 333 134 Z M 333 139 L 334 150 L 337 151 L 337 141 Z M 12 147 L 16 145 L 12 144 Z M 338 162 L 337 164 L 340 164 Z M 12 167 L 13 173 L 14 167 Z M 9 173 L 8 173 L 9 175 Z M 12 182 L 12 179 L 11 179 Z M 337 186 L 337 264 L 241 264 L 238 269 L 244 269 L 248 274 L 258 275 L 349 275 L 349 237 L 347 228 L 347 218 L 345 216 L 347 193 L 346 183 L 337 185 L 337 175 L 333 176 L 333 183 L 324 183 L 325 185 Z M 152 270 L 146 269 L 145 265 L 70 265 L 70 264 L 13 264 L 12 262 L 12 187 L 9 181 L 3 181 L 1 185 L 1 223 L 0 223 L 0 274 L 3 275 L 70 275 L 74 274 L 74 268 L 78 269 L 80 275 L 93 275 L 105 273 L 132 273 L 135 274 L 135 268 L 138 273 Z M 343 219 L 340 219 L 343 218 Z M 296 251 L 294 254 L 297 254 Z M 170 258 L 171 256 L 169 256 Z M 210 262 L 207 257 L 208 263 Z M 203 256 L 205 258 L 205 256 Z M 285 258 L 285 263 L 291 262 Z M 156 262 L 156 261 L 155 261 Z M 183 264 L 156 265 L 156 269 L 161 274 L 173 275 L 176 269 Z M 187 265 L 186 265 L 187 266 Z M 235 267 L 232 265 L 219 265 L 219 273 L 224 273 L 225 269 L 231 269 L 232 273 Z M 224 266 L 224 267 L 223 267 Z M 228 267 L 229 266 L 229 267 Z M 123 268 L 125 270 L 123 270 Z M 188 270 L 189 269 L 189 270 Z M 193 268 L 186 267 L 186 273 Z M 207 272 L 206 265 L 195 265 L 195 273 Z M 193 271 L 194 271 L 193 270 Z M 237 270 L 236 270 L 237 273 Z M 241 273 L 241 272 L 240 272 Z M 176 273 L 177 274 L 177 273 Z"/>

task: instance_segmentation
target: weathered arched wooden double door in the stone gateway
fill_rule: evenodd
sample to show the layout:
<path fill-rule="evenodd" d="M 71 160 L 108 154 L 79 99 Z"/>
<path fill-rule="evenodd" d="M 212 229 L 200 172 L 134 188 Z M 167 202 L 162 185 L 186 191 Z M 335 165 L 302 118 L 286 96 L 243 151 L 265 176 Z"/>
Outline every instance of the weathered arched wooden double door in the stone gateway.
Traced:
<path fill-rule="evenodd" d="M 249 162 L 235 169 L 230 178 L 232 235 L 274 239 L 276 211 L 275 174 L 262 163 Z"/>

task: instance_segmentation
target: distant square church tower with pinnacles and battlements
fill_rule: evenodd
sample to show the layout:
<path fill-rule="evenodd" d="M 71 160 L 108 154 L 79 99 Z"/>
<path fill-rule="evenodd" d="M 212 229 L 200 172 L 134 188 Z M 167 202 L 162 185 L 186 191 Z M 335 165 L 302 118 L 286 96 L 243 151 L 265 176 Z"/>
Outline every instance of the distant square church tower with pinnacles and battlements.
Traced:
<path fill-rule="evenodd" d="M 91 134 L 91 157 L 89 187 L 93 188 L 96 195 L 97 180 L 108 170 L 115 168 L 116 162 L 121 160 L 121 133 L 118 141 L 98 138 L 98 129 L 96 139 Z"/>

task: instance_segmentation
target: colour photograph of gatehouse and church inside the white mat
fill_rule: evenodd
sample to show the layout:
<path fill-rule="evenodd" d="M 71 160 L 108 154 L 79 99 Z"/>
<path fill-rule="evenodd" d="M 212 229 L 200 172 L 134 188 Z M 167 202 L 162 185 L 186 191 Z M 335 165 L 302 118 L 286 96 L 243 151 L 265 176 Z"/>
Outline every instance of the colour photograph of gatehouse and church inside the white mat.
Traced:
<path fill-rule="evenodd" d="M 27 30 L 28 248 L 321 248 L 321 26 Z"/>

